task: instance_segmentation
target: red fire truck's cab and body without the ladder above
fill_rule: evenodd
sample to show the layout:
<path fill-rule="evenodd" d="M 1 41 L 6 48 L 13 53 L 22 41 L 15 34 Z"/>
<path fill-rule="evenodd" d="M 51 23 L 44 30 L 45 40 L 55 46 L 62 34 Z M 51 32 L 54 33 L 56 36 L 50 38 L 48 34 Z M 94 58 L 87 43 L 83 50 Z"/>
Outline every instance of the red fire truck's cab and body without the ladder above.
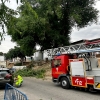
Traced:
<path fill-rule="evenodd" d="M 85 54 L 61 54 L 52 59 L 52 80 L 62 88 L 71 86 L 100 90 L 100 67 L 97 58 Z"/>

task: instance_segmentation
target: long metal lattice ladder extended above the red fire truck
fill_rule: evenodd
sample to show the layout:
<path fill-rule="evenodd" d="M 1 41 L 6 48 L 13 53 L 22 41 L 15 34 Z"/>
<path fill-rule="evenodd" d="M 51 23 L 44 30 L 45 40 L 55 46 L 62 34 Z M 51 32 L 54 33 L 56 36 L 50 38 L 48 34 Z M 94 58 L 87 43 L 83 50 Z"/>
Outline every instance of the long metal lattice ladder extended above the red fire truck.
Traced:
<path fill-rule="evenodd" d="M 53 49 L 44 50 L 48 56 L 54 56 L 57 54 L 74 54 L 74 53 L 87 53 L 87 52 L 99 52 L 100 40 L 88 42 L 64 47 L 58 47 Z"/>

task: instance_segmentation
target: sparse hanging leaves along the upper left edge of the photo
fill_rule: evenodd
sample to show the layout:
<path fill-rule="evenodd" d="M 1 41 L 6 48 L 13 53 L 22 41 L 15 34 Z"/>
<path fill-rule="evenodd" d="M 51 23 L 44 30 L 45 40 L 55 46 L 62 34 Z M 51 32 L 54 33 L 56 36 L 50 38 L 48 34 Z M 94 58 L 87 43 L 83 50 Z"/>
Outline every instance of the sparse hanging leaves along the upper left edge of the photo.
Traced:
<path fill-rule="evenodd" d="M 17 12 L 13 9 L 10 9 L 5 5 L 6 2 L 9 2 L 10 0 L 1 0 L 0 3 L 0 41 L 4 39 L 4 34 L 6 33 L 6 25 L 8 24 L 8 21 L 12 19 L 13 16 L 17 15 Z"/>

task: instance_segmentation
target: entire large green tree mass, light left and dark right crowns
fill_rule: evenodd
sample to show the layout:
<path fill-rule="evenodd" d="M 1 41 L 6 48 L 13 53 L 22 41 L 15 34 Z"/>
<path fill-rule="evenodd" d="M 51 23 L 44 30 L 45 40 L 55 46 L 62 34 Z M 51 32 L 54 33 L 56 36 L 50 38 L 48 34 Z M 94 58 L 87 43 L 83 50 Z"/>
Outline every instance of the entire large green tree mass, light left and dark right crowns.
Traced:
<path fill-rule="evenodd" d="M 19 8 L 20 17 L 7 25 L 8 34 L 31 55 L 36 44 L 42 50 L 69 45 L 73 27 L 83 28 L 97 21 L 95 0 L 28 0 Z M 13 23 L 12 23 L 13 22 Z"/>

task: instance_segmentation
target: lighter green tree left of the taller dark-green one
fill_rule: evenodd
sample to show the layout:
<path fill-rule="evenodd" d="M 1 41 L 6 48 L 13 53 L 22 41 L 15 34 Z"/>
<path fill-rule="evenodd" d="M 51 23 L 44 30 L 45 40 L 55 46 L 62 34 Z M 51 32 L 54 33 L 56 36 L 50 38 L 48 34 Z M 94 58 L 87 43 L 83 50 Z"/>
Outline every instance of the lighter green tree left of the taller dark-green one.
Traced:
<path fill-rule="evenodd" d="M 9 20 L 7 29 L 8 34 L 12 36 L 12 41 L 16 41 L 24 54 L 30 56 L 33 54 L 33 49 L 38 39 L 36 37 L 36 31 L 38 31 L 39 28 L 37 29 L 36 27 L 39 26 L 39 21 L 37 14 L 29 3 L 23 3 L 22 9 L 19 9 L 19 18 L 13 17 Z M 12 20 L 14 23 L 12 23 Z"/>

